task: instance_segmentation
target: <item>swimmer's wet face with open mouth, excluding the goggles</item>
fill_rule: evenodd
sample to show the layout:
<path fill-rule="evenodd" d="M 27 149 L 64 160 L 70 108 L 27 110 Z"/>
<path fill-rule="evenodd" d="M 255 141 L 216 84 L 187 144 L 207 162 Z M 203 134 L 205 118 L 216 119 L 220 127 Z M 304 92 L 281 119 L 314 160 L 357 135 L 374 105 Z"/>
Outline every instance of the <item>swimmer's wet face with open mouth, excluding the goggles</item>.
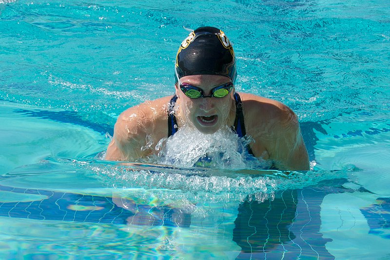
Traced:
<path fill-rule="evenodd" d="M 212 95 L 211 91 L 216 86 L 228 83 L 231 80 L 218 75 L 193 75 L 180 79 L 181 83 L 191 84 L 200 88 L 204 96 Z M 190 123 L 200 132 L 213 134 L 221 127 L 234 123 L 234 89 L 223 98 L 197 98 L 187 97 L 178 84 L 175 85 L 178 97 L 179 115 L 184 123 Z"/>

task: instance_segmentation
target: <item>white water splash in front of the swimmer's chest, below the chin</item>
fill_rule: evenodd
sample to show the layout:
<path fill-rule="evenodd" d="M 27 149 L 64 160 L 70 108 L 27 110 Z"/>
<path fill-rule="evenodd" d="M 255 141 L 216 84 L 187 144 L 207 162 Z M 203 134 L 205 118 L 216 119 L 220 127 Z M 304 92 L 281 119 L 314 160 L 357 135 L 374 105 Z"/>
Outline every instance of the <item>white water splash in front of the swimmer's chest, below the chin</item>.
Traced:
<path fill-rule="evenodd" d="M 228 127 L 214 134 L 203 134 L 193 127 L 184 126 L 157 145 L 158 163 L 180 167 L 247 169 L 248 159 L 259 162 L 248 154 L 246 146 L 249 142 L 239 138 Z"/>

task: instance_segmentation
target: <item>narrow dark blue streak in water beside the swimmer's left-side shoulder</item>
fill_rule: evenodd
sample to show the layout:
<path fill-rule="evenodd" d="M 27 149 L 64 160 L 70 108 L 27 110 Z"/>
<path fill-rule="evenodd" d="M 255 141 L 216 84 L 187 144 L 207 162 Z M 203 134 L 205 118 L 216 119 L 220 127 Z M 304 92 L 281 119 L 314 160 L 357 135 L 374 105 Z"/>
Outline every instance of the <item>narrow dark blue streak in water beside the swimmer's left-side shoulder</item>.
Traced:
<path fill-rule="evenodd" d="M 48 111 L 48 110 L 27 110 L 27 109 L 16 109 L 16 113 L 21 113 L 27 117 L 49 119 L 61 123 L 72 123 L 80 126 L 90 128 L 98 133 L 105 134 L 109 133 L 111 136 L 114 134 L 114 124 L 108 123 L 95 123 L 88 120 L 84 120 L 83 117 L 74 111 Z"/>

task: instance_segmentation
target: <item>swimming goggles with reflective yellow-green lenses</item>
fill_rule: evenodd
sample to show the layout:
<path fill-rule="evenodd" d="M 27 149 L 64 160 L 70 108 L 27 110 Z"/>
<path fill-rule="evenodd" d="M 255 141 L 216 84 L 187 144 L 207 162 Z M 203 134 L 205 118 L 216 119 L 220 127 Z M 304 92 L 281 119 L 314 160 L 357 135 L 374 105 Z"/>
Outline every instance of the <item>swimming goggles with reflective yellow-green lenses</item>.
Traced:
<path fill-rule="evenodd" d="M 205 95 L 203 95 L 203 90 L 201 88 L 195 87 L 195 86 L 188 84 L 188 83 L 181 83 L 181 81 L 177 75 L 177 72 L 176 72 L 176 76 L 177 76 L 177 80 L 179 82 L 181 91 L 183 91 L 184 95 L 186 95 L 190 99 L 197 99 L 200 97 L 202 97 L 202 98 L 211 98 L 211 97 L 223 98 L 223 97 L 226 97 L 227 95 L 229 95 L 229 93 L 233 89 L 233 82 L 228 82 L 228 83 L 225 83 L 223 85 L 216 86 L 215 88 L 213 88 L 211 90 L 210 96 L 205 96 Z"/>

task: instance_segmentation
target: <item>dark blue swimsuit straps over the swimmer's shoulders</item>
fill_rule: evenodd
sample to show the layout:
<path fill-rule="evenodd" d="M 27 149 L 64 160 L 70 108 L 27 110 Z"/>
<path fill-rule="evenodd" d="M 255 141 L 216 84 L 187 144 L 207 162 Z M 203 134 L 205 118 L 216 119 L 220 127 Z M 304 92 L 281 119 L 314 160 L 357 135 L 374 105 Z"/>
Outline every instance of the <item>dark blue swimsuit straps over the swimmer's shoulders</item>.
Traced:
<path fill-rule="evenodd" d="M 168 137 L 173 136 L 177 130 L 177 121 L 173 113 L 177 96 L 173 96 L 169 106 L 168 106 Z M 242 102 L 238 93 L 234 93 L 235 100 L 235 120 L 233 131 L 238 135 L 238 137 L 244 137 L 246 135 L 245 124 L 244 124 L 244 114 L 242 113 Z M 249 144 L 247 145 L 248 153 L 254 155 Z"/>

